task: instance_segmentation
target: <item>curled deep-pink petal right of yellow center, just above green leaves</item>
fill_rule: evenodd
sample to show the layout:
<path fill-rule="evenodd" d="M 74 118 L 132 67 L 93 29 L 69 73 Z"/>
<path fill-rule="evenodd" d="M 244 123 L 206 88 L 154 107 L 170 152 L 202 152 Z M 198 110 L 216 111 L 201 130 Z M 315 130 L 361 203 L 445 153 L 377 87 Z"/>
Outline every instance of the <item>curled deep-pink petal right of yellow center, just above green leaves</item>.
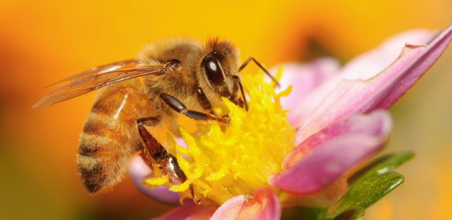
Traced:
<path fill-rule="evenodd" d="M 283 172 L 269 177 L 269 184 L 294 194 L 317 192 L 381 150 L 391 128 L 384 110 L 350 116 L 301 143 L 284 160 Z"/>

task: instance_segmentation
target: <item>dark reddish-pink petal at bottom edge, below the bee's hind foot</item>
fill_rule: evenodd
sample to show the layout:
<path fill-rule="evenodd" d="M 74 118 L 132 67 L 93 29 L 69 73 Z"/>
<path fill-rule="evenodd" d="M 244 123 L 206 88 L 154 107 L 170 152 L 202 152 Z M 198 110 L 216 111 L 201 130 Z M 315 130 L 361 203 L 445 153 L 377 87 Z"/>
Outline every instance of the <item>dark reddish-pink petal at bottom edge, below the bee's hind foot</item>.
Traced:
<path fill-rule="evenodd" d="M 215 209 L 217 209 L 217 207 L 204 207 L 194 204 L 193 202 L 186 202 L 180 207 L 158 216 L 156 219 L 210 219 L 210 216 L 215 212 Z"/>

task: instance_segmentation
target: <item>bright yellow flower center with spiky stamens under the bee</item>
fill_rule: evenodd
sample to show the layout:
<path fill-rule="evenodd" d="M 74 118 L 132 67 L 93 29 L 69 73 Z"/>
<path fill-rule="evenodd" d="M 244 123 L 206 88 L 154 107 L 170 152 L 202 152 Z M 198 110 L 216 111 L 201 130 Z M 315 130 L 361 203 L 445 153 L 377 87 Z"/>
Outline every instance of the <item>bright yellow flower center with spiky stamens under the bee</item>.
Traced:
<path fill-rule="evenodd" d="M 278 75 L 281 72 L 282 68 Z M 199 132 L 193 134 L 181 128 L 188 148 L 168 141 L 170 153 L 176 153 L 188 180 L 173 185 L 155 172 L 153 179 L 146 180 L 149 185 L 167 185 L 183 199 L 191 198 L 189 186 L 193 183 L 196 198 L 205 205 L 220 205 L 237 195 L 269 187 L 267 177 L 281 172 L 282 161 L 294 148 L 294 128 L 279 101 L 291 87 L 276 94 L 274 85 L 264 82 L 262 73 L 244 75 L 242 82 L 249 94 L 248 111 L 223 99 L 230 111 L 229 124 L 200 123 Z"/>

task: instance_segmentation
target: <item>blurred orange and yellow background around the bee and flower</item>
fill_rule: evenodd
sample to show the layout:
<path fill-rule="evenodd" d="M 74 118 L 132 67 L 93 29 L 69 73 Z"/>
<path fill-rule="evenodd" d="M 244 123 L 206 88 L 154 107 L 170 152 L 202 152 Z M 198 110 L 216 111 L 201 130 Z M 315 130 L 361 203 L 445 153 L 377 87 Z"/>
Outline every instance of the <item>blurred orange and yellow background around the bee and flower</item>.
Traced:
<path fill-rule="evenodd" d="M 452 1 L 0 1 L 0 219 L 149 219 L 171 207 L 129 177 L 90 196 L 75 164 L 93 94 L 32 110 L 43 86 L 172 36 L 219 36 L 267 66 L 342 62 L 411 28 L 446 28 Z M 248 70 L 252 71 L 252 70 Z M 392 108 L 387 152 L 413 150 L 404 184 L 367 219 L 452 219 L 452 48 Z"/>

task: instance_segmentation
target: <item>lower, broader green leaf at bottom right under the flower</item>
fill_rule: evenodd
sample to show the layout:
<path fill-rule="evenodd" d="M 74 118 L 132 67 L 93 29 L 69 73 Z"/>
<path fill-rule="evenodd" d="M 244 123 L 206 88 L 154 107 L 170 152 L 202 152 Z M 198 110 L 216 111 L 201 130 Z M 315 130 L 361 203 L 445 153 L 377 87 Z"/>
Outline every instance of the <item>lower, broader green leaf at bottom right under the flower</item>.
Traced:
<path fill-rule="evenodd" d="M 338 209 L 328 217 L 334 218 L 350 209 L 367 209 L 402 182 L 404 182 L 404 177 L 397 172 L 386 172 L 382 175 L 372 175 L 360 179 L 350 187 Z"/>

